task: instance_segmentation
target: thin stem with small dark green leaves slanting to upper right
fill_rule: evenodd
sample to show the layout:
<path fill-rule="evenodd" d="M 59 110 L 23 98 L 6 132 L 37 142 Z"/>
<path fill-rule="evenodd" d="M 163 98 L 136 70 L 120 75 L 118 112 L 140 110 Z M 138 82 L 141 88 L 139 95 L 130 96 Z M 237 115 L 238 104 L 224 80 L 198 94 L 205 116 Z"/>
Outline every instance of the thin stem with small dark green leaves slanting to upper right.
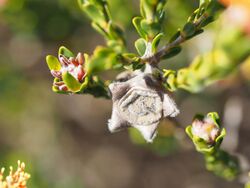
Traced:
<path fill-rule="evenodd" d="M 224 7 L 216 0 L 201 1 L 201 5 L 188 18 L 187 23 L 183 26 L 183 28 L 178 29 L 178 31 L 170 38 L 169 42 L 160 50 L 155 52 L 150 57 L 141 58 L 140 62 L 158 64 L 162 59 L 177 55 L 181 51 L 180 45 L 185 41 L 201 34 L 203 32 L 203 27 L 213 22 L 217 14 L 223 10 L 223 8 Z M 155 43 L 158 44 L 159 42 L 157 37 L 155 40 L 157 40 Z"/>

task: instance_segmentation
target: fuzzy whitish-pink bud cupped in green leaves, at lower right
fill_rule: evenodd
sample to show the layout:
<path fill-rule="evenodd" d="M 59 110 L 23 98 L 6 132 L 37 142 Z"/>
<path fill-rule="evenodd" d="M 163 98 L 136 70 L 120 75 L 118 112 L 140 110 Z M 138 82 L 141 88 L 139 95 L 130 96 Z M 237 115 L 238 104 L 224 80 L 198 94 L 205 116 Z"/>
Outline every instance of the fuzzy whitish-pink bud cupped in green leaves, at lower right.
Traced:
<path fill-rule="evenodd" d="M 219 125 L 219 116 L 216 112 L 206 116 L 197 115 L 192 125 L 186 128 L 188 136 L 196 149 L 204 153 L 212 153 L 218 148 L 226 135 L 225 129 Z"/>

